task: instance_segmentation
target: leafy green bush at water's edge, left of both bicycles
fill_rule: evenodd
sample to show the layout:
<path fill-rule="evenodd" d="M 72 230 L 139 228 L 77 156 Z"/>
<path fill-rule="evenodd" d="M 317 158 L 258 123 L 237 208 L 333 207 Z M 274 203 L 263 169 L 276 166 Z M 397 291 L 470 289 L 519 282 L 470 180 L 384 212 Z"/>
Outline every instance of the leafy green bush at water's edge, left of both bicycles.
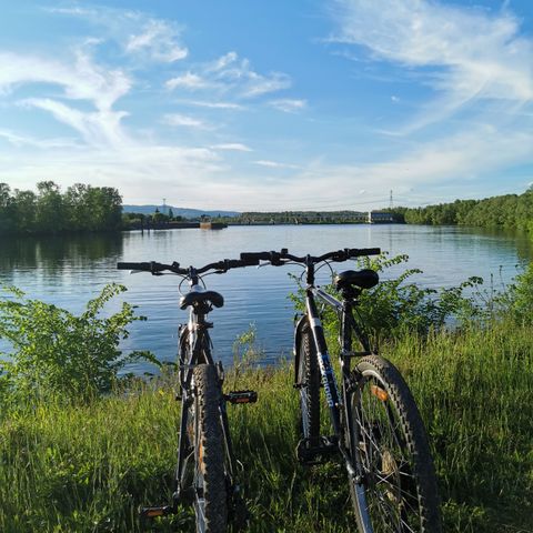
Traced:
<path fill-rule="evenodd" d="M 135 320 L 134 308 L 102 318 L 103 305 L 125 288 L 108 284 L 79 316 L 57 305 L 30 300 L 14 288 L 0 299 L 0 339 L 12 351 L 0 352 L 0 393 L 17 400 L 57 395 L 88 401 L 108 392 L 123 366 L 134 360 L 155 362 L 148 352 L 123 355 L 119 343 Z"/>

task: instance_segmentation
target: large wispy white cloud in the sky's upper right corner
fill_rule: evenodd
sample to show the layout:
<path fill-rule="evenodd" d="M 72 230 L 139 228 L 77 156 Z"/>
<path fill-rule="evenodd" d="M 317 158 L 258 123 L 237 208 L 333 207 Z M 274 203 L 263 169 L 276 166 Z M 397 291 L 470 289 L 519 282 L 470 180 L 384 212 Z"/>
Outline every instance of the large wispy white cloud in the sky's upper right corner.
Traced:
<path fill-rule="evenodd" d="M 373 59 L 430 69 L 425 80 L 441 100 L 419 127 L 481 99 L 533 100 L 533 42 L 507 11 L 426 0 L 336 0 L 335 8 L 336 40 L 365 47 Z"/>

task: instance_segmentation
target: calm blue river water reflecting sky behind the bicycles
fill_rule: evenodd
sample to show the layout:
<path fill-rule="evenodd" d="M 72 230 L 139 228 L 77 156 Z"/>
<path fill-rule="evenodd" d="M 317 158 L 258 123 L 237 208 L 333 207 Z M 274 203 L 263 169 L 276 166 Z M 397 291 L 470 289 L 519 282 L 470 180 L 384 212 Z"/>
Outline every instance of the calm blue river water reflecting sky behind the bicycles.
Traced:
<path fill-rule="evenodd" d="M 241 251 L 288 248 L 295 254 L 320 254 L 340 248 L 380 247 L 391 254 L 406 253 L 409 266 L 424 271 L 416 279 L 426 286 L 451 286 L 470 275 L 494 282 L 510 281 L 533 257 L 525 235 L 456 227 L 418 225 L 288 225 L 242 227 L 221 231 L 171 230 L 151 233 L 77 238 L 0 240 L 0 282 L 14 284 L 38 298 L 71 311 L 111 281 L 128 286 L 124 299 L 139 305 L 148 322 L 130 328 L 124 350 L 152 350 L 160 360 L 175 358 L 177 324 L 187 321 L 178 309 L 178 278 L 130 275 L 117 271 L 117 261 L 179 261 L 182 265 L 237 259 Z M 340 266 L 340 265 L 339 265 Z M 350 268 L 345 263 L 345 268 Z M 342 269 L 342 266 L 340 266 Z M 403 269 L 402 269 L 403 270 Z M 288 294 L 294 283 L 289 268 L 248 268 L 205 279 L 224 295 L 225 304 L 210 319 L 215 355 L 232 360 L 239 333 L 255 324 L 268 358 L 289 354 L 293 309 Z M 292 272 L 298 270 L 292 269 Z M 392 271 L 391 271 L 392 273 Z M 118 309 L 120 301 L 110 305 Z M 152 370 L 135 366 L 141 372 Z"/>

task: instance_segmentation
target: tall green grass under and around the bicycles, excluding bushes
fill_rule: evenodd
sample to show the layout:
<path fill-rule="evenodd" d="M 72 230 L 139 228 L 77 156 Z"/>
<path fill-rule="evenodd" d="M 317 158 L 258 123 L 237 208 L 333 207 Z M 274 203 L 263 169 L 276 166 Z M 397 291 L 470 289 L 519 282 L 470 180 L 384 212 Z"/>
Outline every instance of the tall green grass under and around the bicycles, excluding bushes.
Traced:
<path fill-rule="evenodd" d="M 533 531 L 532 339 L 532 326 L 497 323 L 382 346 L 426 423 L 446 532 Z M 242 372 L 238 386 L 260 398 L 229 406 L 250 531 L 355 531 L 342 465 L 295 460 L 290 368 Z M 193 531 L 190 509 L 145 526 L 137 516 L 140 504 L 170 500 L 178 418 L 171 380 L 137 383 L 89 405 L 4 411 L 0 531 Z"/>

